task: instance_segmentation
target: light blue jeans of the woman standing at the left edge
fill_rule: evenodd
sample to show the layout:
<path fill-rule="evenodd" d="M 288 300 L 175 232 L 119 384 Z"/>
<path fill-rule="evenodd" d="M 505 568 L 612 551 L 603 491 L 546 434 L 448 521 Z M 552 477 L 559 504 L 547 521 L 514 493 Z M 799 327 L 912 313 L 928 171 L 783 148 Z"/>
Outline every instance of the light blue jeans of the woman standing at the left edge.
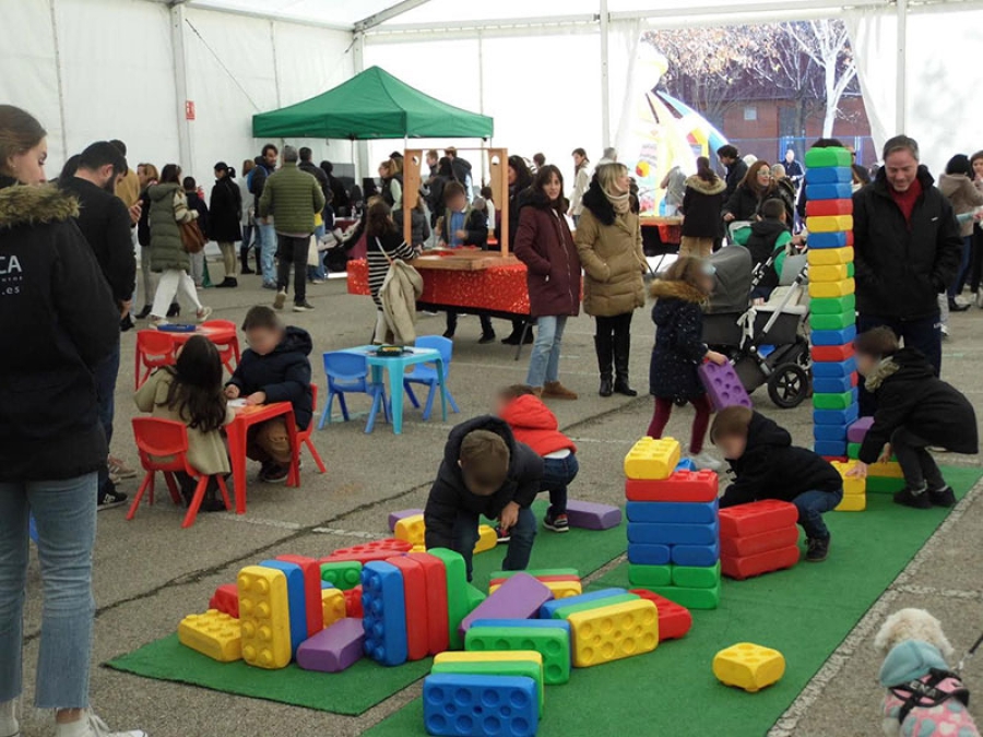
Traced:
<path fill-rule="evenodd" d="M 27 516 L 37 526 L 44 586 L 35 705 L 88 706 L 95 602 L 96 474 L 0 484 L 0 703 L 21 696 Z"/>

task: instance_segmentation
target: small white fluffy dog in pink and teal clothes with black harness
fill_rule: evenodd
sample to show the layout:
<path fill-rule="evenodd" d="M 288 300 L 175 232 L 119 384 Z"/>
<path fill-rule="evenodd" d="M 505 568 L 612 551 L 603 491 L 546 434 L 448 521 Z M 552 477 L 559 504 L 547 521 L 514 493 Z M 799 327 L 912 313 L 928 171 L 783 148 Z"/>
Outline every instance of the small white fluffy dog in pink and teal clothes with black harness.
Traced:
<path fill-rule="evenodd" d="M 924 609 L 901 609 L 881 626 L 874 646 L 885 655 L 880 685 L 886 735 L 980 737 L 966 709 L 969 691 L 949 670 L 955 654 L 941 623 Z"/>

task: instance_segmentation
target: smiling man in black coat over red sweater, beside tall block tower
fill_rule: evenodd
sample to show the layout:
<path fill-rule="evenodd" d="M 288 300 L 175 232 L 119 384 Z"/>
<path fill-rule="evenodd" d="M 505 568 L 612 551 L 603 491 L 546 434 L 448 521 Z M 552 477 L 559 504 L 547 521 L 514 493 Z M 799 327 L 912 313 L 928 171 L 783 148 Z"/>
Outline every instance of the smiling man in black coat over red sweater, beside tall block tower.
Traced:
<path fill-rule="evenodd" d="M 962 241 L 952 205 L 934 182 L 914 139 L 890 139 L 874 183 L 853 195 L 853 248 L 857 332 L 887 325 L 938 373 L 938 295 L 956 278 Z M 876 408 L 864 387 L 860 408 L 862 416 Z"/>

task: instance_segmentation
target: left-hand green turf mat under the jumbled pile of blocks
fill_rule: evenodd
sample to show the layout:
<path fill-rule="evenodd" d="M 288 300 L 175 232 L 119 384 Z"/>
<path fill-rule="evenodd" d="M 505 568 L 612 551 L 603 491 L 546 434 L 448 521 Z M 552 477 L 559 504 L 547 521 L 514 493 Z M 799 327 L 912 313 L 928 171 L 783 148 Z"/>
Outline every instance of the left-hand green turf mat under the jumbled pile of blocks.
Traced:
<path fill-rule="evenodd" d="M 545 501 L 533 504 L 536 519 L 542 519 L 546 507 Z M 530 568 L 576 568 L 581 576 L 585 576 L 621 555 L 625 539 L 624 522 L 603 532 L 571 530 L 562 535 L 541 527 Z M 496 550 L 474 557 L 474 585 L 481 591 L 488 591 L 490 574 L 501 569 L 505 551 L 506 546 L 499 546 Z M 325 550 L 324 555 L 328 552 Z M 201 609 L 206 608 L 208 599 L 203 598 Z M 335 714 L 357 715 L 429 673 L 430 659 L 394 668 L 362 659 L 340 674 L 311 673 L 296 665 L 283 670 L 262 670 L 241 661 L 217 663 L 181 645 L 177 634 L 169 634 L 106 665 L 146 678 L 191 683 Z"/>

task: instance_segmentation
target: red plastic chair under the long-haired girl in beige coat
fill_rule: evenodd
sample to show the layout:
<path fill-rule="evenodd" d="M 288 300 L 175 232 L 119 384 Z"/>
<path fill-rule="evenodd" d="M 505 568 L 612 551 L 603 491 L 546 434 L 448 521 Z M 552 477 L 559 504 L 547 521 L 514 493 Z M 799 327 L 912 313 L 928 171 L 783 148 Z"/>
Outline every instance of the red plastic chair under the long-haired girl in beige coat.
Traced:
<path fill-rule="evenodd" d="M 194 524 L 194 518 L 198 516 L 198 510 L 204 499 L 211 476 L 197 472 L 188 463 L 188 428 L 182 423 L 176 423 L 173 419 L 134 417 L 133 435 L 137 439 L 137 450 L 140 452 L 140 463 L 146 469 L 146 476 L 143 478 L 143 484 L 140 485 L 137 498 L 130 506 L 130 511 L 127 512 L 127 520 L 132 520 L 137 514 L 137 509 L 147 490 L 150 490 L 150 503 L 154 503 L 154 476 L 158 471 L 164 474 L 164 480 L 167 483 L 174 503 L 180 504 L 181 495 L 178 492 L 174 473 L 182 471 L 198 480 L 191 506 L 181 523 L 181 527 L 190 527 Z M 218 482 L 225 509 L 232 511 L 233 507 L 228 498 L 228 488 L 225 486 L 225 478 L 221 474 L 216 474 L 215 479 Z"/>

